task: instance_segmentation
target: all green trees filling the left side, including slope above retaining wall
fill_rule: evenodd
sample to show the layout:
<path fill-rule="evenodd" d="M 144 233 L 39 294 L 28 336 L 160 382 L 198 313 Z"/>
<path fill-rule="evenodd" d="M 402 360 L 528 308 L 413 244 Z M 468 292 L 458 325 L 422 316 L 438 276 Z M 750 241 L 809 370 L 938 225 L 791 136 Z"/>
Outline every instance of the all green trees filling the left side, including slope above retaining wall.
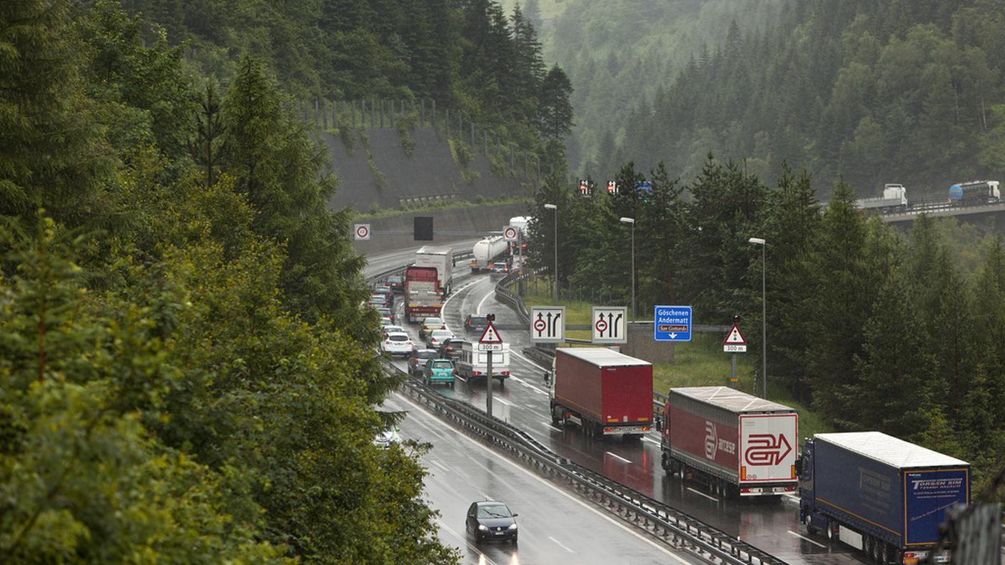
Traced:
<path fill-rule="evenodd" d="M 568 106 L 497 88 L 561 70 L 489 2 L 127 4 L 0 3 L 0 562 L 456 562 L 428 445 L 372 442 L 400 383 L 295 101 L 410 89 L 545 140 Z M 433 43 L 370 29 L 424 14 Z"/>

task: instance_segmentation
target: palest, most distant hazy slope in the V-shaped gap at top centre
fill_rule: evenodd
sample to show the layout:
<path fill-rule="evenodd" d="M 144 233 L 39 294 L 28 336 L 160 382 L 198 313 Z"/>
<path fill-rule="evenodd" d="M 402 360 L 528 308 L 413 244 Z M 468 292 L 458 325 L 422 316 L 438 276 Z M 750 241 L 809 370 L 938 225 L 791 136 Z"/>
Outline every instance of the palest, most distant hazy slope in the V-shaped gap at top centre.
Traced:
<path fill-rule="evenodd" d="M 574 169 L 625 140 L 632 110 L 691 58 L 708 60 L 736 21 L 742 31 L 777 21 L 784 0 L 508 0 L 541 33 L 544 55 L 569 73 L 576 127 Z"/>

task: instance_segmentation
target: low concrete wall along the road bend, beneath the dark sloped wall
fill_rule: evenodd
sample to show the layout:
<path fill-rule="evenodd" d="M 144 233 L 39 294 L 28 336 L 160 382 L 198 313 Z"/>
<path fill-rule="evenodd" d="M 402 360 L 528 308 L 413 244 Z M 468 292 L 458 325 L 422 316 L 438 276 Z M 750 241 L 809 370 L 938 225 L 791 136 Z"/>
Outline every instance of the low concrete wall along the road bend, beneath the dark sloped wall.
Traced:
<path fill-rule="evenodd" d="M 417 247 L 428 243 L 449 243 L 465 239 L 477 239 L 477 235 L 438 236 L 433 241 L 415 241 L 412 228 L 415 216 L 432 216 L 433 231 L 500 231 L 514 216 L 527 215 L 529 203 L 492 204 L 454 210 L 428 210 L 406 212 L 394 216 L 360 220 L 369 223 L 373 232 L 370 241 L 355 241 L 357 251 L 369 255 Z M 382 235 L 382 231 L 407 231 L 407 235 Z"/>

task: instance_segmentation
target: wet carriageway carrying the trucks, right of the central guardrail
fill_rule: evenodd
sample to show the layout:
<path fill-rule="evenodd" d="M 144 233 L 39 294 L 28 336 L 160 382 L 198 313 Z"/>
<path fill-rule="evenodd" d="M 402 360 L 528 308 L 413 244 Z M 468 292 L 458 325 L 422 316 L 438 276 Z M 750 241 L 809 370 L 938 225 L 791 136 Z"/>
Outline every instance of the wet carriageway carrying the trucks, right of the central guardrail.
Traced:
<path fill-rule="evenodd" d="M 458 247 L 459 248 L 459 247 Z M 471 275 L 460 265 L 454 273 L 454 293 L 444 303 L 444 320 L 449 329 L 463 336 L 463 320 L 468 314 L 492 313 L 500 324 L 518 324 L 516 314 L 494 298 L 495 280 L 488 275 Z M 401 313 L 401 305 L 396 304 Z M 404 325 L 418 338 L 418 327 Z M 864 563 L 864 556 L 841 544 L 828 545 L 820 537 L 810 537 L 799 523 L 794 499 L 779 501 L 723 501 L 700 485 L 669 478 L 659 465 L 660 449 L 656 432 L 642 441 L 588 439 L 577 427 L 558 428 L 548 415 L 548 390 L 543 381 L 544 368 L 521 351 L 529 347 L 525 332 L 500 332 L 511 344 L 513 376 L 505 387 L 493 385 L 493 415 L 532 434 L 562 456 L 603 474 L 648 497 L 661 500 L 695 518 L 738 536 L 789 563 L 849 564 Z M 476 339 L 477 336 L 463 336 Z M 405 367 L 405 361 L 398 361 Z M 440 393 L 485 408 L 485 385 L 458 380 L 453 389 L 441 387 Z M 434 441 L 438 445 L 437 441 Z M 518 511 L 519 512 L 519 511 Z M 522 542 L 523 543 L 523 542 Z"/>

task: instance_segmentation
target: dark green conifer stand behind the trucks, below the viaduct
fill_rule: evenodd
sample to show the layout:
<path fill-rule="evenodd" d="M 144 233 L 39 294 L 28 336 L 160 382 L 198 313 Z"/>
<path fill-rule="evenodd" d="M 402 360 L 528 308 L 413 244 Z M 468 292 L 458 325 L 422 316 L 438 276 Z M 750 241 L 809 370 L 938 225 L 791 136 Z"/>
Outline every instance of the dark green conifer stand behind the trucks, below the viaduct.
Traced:
<path fill-rule="evenodd" d="M 644 179 L 651 195 L 623 188 Z M 615 180 L 617 194 L 601 182 L 582 197 L 549 179 L 533 211 L 533 264 L 552 269 L 557 216 L 562 287 L 627 305 L 631 233 L 619 218 L 635 218 L 640 319 L 655 305 L 691 305 L 695 324 L 739 315 L 748 329 L 761 328 L 764 269 L 769 388 L 837 430 L 879 430 L 970 461 L 975 495 L 1003 470 L 1001 235 L 924 215 L 898 231 L 861 213 L 845 184 L 823 207 L 818 181 L 784 165 L 771 186 L 712 155 L 692 183 L 662 164 L 628 163 Z M 758 373 L 760 334 L 746 333 Z"/>

